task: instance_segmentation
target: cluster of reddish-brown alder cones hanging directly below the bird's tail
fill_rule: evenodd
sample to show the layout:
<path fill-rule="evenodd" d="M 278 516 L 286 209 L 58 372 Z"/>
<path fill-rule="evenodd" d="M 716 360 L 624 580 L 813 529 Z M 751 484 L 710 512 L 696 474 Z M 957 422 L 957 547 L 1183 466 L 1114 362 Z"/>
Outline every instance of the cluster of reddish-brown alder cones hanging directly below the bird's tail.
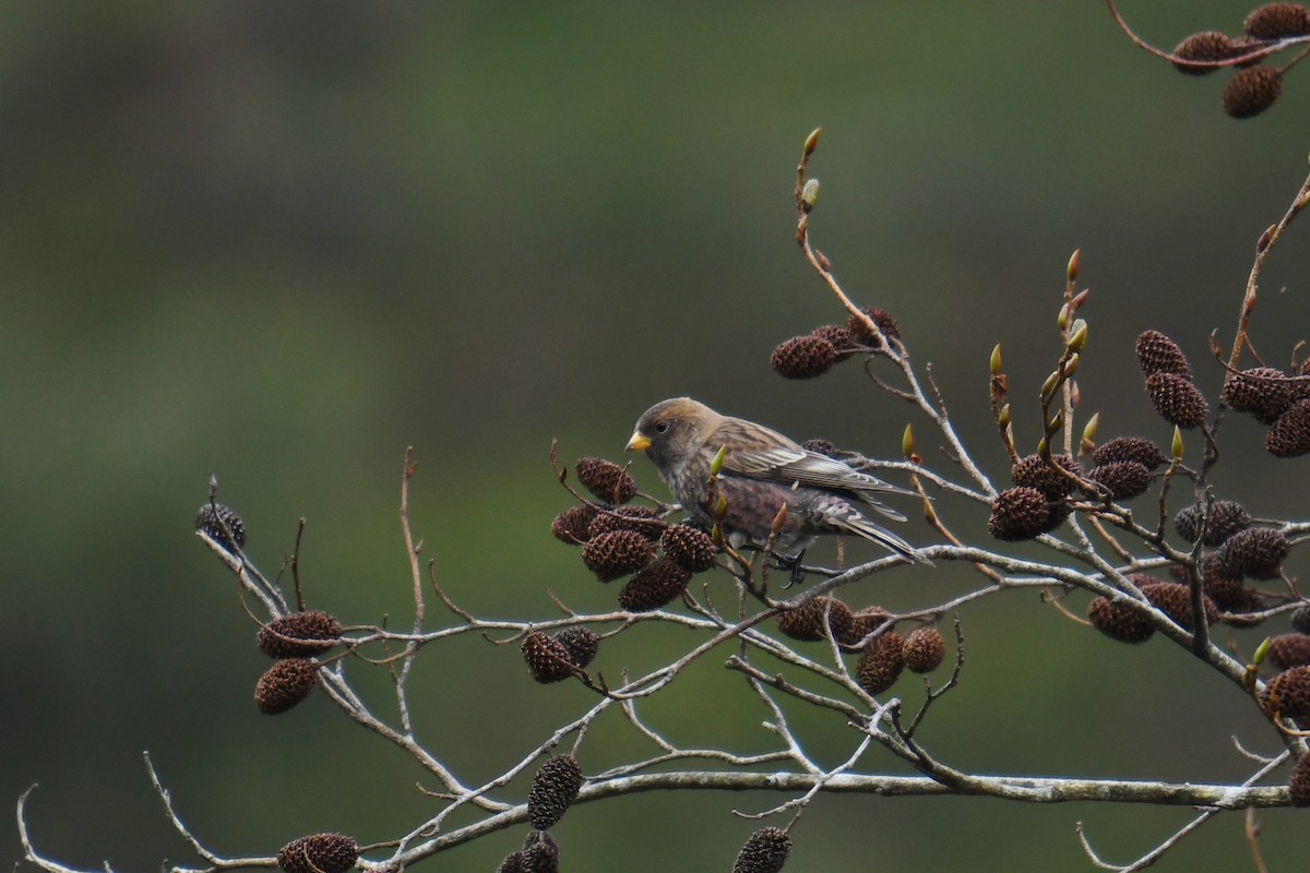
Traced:
<path fill-rule="evenodd" d="M 934 626 L 924 624 L 901 635 L 886 610 L 870 606 L 855 611 L 824 594 L 781 613 L 778 630 L 800 641 L 831 637 L 842 650 L 859 652 L 855 681 L 871 695 L 891 688 L 903 670 L 931 673 L 946 654 L 946 641 Z"/>

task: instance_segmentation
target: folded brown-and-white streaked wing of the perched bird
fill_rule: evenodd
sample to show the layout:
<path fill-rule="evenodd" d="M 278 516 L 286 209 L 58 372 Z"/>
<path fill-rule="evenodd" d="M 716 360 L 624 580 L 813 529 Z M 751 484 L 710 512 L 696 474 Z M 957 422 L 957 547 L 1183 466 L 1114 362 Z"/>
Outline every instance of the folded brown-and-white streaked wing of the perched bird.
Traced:
<path fill-rule="evenodd" d="M 723 472 L 728 475 L 844 491 L 896 521 L 905 521 L 905 516 L 883 504 L 878 495 L 913 496 L 914 493 L 886 483 L 878 476 L 861 472 L 837 458 L 807 452 L 776 431 L 740 419 L 724 420 L 715 429 L 706 450 L 718 452 L 720 445 L 730 446 L 730 452 L 723 458 Z"/>

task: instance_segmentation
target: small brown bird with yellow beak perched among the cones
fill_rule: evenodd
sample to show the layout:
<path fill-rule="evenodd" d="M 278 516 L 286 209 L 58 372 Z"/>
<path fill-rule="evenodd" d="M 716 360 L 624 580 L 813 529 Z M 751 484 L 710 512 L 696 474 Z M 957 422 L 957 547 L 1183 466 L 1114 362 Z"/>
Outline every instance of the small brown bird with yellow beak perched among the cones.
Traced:
<path fill-rule="evenodd" d="M 773 551 L 793 568 L 820 534 L 858 534 L 909 560 L 931 563 L 861 510 L 865 504 L 905 521 L 879 497 L 914 492 L 810 452 L 764 425 L 719 415 L 698 401 L 679 397 L 646 410 L 627 448 L 646 452 L 683 509 L 703 525 L 715 521 L 715 507 L 709 505 L 710 466 L 724 449 L 715 484 L 726 504 L 719 521 L 734 548 L 762 548 L 778 510 L 786 507 Z"/>

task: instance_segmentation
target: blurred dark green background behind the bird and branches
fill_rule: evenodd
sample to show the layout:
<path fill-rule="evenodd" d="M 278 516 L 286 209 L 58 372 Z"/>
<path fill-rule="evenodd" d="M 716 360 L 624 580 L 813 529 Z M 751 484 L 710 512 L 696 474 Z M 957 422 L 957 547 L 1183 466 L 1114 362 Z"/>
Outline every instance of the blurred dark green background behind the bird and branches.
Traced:
<path fill-rule="evenodd" d="M 1165 46 L 1233 31 L 1246 10 L 1124 4 Z M 227 855 L 318 830 L 388 839 L 434 809 L 415 789 L 431 780 L 325 696 L 255 712 L 254 627 L 191 535 L 211 471 L 266 571 L 308 520 L 310 605 L 347 623 L 409 616 L 406 445 L 415 533 L 461 605 L 544 619 L 552 589 L 608 609 L 613 589 L 548 533 L 569 503 L 546 462 L 553 437 L 570 463 L 618 457 L 642 410 L 693 394 L 872 454 L 895 455 L 913 421 L 921 454 L 946 467 L 927 423 L 857 365 L 807 383 L 768 369 L 777 342 L 842 315 L 793 241 L 794 166 L 814 127 L 816 245 L 857 300 L 899 318 L 996 478 L 988 353 L 1002 343 L 1031 446 L 1028 398 L 1058 352 L 1076 247 L 1093 288 L 1083 408 L 1102 410 L 1102 435 L 1167 442 L 1134 372 L 1144 329 L 1175 336 L 1213 397 L 1207 336 L 1231 336 L 1254 242 L 1310 147 L 1301 71 L 1267 116 L 1233 122 L 1224 73 L 1175 73 L 1093 0 L 28 3 L 0 7 L 0 798 L 39 781 L 38 847 L 84 868 L 194 861 L 145 749 L 183 819 Z M 1276 363 L 1307 325 L 1303 232 L 1271 262 L 1255 314 Z M 1303 487 L 1285 487 L 1303 486 L 1303 461 L 1269 459 L 1250 421 L 1225 437 L 1221 496 L 1303 513 Z M 660 492 L 645 461 L 635 470 Z M 977 507 L 942 508 L 985 537 Z M 904 607 L 973 584 L 943 567 L 849 593 Z M 730 598 L 722 579 L 713 590 Z M 1233 780 L 1250 764 L 1230 734 L 1277 749 L 1231 686 L 1163 641 L 1114 645 L 1023 593 L 962 618 L 964 682 L 922 737 L 954 766 Z M 638 627 L 600 666 L 648 669 L 688 644 Z M 470 637 L 426 654 L 421 736 L 470 783 L 591 703 L 531 683 L 512 647 Z M 766 713 L 720 664 L 675 686 L 652 722 L 683 742 L 765 747 Z M 385 702 L 383 677 L 354 671 Z M 897 694 L 922 691 L 907 678 Z M 845 758 L 849 729 L 793 715 L 817 758 Z M 633 749 L 597 729 L 583 767 Z M 878 751 L 866 766 L 903 770 Z M 760 826 L 730 810 L 781 800 L 631 797 L 578 808 L 555 834 L 571 870 L 728 869 Z M 791 864 L 1089 869 L 1076 821 L 1128 860 L 1187 818 L 825 797 L 794 830 Z M 1271 869 L 1298 864 L 1303 821 L 1260 819 Z M 491 870 L 521 836 L 430 865 Z M 0 839 L 17 859 L 16 835 Z M 1234 814 L 1157 869 L 1250 868 Z"/>

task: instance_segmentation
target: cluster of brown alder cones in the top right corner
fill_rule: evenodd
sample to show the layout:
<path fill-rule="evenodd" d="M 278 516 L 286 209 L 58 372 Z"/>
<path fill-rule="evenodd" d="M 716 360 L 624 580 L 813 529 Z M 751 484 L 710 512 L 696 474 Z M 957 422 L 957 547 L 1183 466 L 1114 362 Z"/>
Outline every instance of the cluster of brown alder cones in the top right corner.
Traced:
<path fill-rule="evenodd" d="M 1265 67 L 1264 60 L 1282 48 L 1310 41 L 1310 9 L 1298 3 L 1268 3 L 1251 10 L 1242 22 L 1242 35 L 1218 30 L 1195 33 L 1174 48 L 1174 67 L 1189 76 L 1204 76 L 1225 67 L 1238 67 L 1224 88 L 1224 111 L 1233 118 L 1252 118 L 1269 109 L 1282 93 L 1282 76 L 1301 60 Z"/>

